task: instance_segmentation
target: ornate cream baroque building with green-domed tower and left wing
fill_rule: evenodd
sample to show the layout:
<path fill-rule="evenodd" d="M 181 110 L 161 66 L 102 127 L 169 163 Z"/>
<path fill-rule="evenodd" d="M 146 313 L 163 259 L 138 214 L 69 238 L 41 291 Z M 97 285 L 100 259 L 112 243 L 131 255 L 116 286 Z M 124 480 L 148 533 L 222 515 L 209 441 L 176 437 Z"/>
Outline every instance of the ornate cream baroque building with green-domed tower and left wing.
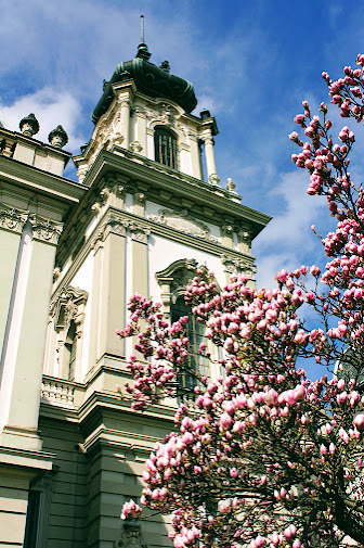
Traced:
<path fill-rule="evenodd" d="M 192 114 L 192 85 L 150 56 L 141 43 L 104 81 L 77 181 L 63 176 L 61 126 L 47 144 L 34 114 L 21 132 L 0 125 L 3 547 L 170 546 L 160 518 L 143 523 L 144 539 L 119 519 L 176 402 L 132 411 L 132 341 L 116 332 L 135 292 L 171 320 L 183 314 L 197 265 L 220 286 L 238 271 L 253 283 L 250 244 L 270 218 L 242 205 L 231 179 L 220 184 L 214 118 Z"/>

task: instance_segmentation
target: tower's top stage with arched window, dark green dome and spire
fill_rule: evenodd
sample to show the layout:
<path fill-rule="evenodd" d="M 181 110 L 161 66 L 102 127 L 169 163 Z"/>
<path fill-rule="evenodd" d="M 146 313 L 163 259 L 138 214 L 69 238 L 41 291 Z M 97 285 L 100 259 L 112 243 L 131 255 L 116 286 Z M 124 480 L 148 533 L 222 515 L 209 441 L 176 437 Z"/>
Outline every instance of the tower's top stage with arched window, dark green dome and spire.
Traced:
<path fill-rule="evenodd" d="M 82 181 L 102 149 L 144 163 L 153 169 L 185 174 L 219 186 L 214 163 L 218 128 L 206 109 L 192 114 L 197 99 L 190 81 L 174 76 L 168 61 L 151 63 L 144 39 L 144 17 L 135 58 L 117 65 L 104 80 L 102 97 L 92 113 L 92 138 L 74 157 Z"/>

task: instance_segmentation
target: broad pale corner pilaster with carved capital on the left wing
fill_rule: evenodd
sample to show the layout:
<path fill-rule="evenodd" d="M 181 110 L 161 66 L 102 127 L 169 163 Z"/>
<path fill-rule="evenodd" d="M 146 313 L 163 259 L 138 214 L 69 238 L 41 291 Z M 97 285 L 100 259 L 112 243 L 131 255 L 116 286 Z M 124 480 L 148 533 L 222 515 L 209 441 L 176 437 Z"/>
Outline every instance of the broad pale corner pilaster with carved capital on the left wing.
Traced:
<path fill-rule="evenodd" d="M 32 219 L 20 245 L 1 357 L 0 444 L 8 447 L 41 448 L 37 429 L 42 358 L 60 230 L 49 219 Z"/>

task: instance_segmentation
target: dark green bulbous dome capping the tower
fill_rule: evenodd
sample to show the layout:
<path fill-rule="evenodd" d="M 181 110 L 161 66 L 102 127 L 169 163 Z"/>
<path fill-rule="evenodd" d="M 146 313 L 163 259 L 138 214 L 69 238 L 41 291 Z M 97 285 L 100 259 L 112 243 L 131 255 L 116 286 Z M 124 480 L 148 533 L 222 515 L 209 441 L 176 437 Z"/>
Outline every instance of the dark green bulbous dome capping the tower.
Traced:
<path fill-rule="evenodd" d="M 134 59 L 117 65 L 110 80 L 104 81 L 103 95 L 91 115 L 94 124 L 107 111 L 114 99 L 112 85 L 131 78 L 134 80 L 136 89 L 145 95 L 170 99 L 187 113 L 195 109 L 197 99 L 192 84 L 170 74 L 167 61 L 164 61 L 161 66 L 156 66 L 148 62 L 150 56 L 147 46 L 140 43 Z"/>

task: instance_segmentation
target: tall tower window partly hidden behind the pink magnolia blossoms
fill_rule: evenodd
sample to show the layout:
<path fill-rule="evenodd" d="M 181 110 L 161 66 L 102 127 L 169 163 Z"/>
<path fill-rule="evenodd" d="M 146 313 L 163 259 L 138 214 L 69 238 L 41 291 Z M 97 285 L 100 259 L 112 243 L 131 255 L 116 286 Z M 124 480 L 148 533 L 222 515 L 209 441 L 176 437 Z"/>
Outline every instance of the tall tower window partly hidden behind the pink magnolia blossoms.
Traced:
<path fill-rule="evenodd" d="M 198 354 L 198 348 L 202 342 L 205 341 L 204 324 L 196 321 L 191 308 L 184 303 L 184 297 L 179 296 L 176 304 L 171 306 L 171 322 L 178 321 L 179 318 L 188 316 L 187 335 L 190 339 L 188 345 L 188 369 L 178 375 L 178 381 L 183 388 L 192 390 L 196 386 L 197 381 L 193 371 L 198 371 L 199 374 L 208 375 L 208 362 Z"/>

